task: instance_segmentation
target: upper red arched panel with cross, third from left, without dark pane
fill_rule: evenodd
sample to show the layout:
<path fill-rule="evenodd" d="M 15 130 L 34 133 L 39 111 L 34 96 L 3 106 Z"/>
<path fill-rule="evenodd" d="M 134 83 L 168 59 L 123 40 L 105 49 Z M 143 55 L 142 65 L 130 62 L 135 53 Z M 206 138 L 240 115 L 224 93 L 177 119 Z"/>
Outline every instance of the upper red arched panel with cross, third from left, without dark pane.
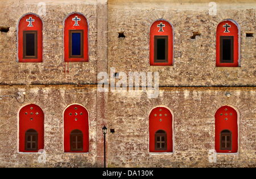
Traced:
<path fill-rule="evenodd" d="M 171 66 L 173 65 L 173 31 L 172 25 L 166 20 L 156 20 L 150 28 L 150 65 L 152 66 Z M 155 37 L 167 36 L 168 37 L 168 61 L 156 62 L 155 61 Z"/>

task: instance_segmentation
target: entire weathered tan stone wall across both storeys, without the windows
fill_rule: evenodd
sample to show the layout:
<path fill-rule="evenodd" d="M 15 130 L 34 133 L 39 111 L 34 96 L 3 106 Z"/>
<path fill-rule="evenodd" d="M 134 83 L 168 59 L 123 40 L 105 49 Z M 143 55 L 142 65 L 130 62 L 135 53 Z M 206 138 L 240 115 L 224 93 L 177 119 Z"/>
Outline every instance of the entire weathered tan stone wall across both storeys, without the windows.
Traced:
<path fill-rule="evenodd" d="M 217 15 L 209 2 L 143 0 L 0 0 L 0 167 L 102 167 L 102 127 L 108 127 L 107 167 L 256 167 L 255 159 L 255 31 L 254 1 L 217 1 Z M 32 12 L 43 20 L 43 62 L 17 62 L 19 18 Z M 64 62 L 63 20 L 80 12 L 89 23 L 89 62 Z M 174 26 L 174 66 L 149 65 L 150 25 L 166 19 Z M 241 27 L 241 66 L 216 67 L 216 28 L 223 19 Z M 125 38 L 118 38 L 124 32 Z M 201 35 L 191 39 L 193 32 Z M 158 72 L 159 96 L 146 92 L 99 92 L 97 74 Z M 118 81 L 118 80 L 117 80 Z M 25 92 L 25 101 L 23 101 Z M 226 93 L 231 93 L 226 97 Z M 20 103 L 18 103 L 20 102 Z M 36 104 L 44 112 L 44 150 L 18 152 L 18 113 Z M 67 154 L 63 148 L 63 112 L 81 104 L 89 112 L 89 152 Z M 214 149 L 214 113 L 230 105 L 240 113 L 238 154 Z M 156 106 L 174 113 L 174 152 L 148 150 L 148 116 Z M 110 133 L 110 129 L 115 132 Z"/>

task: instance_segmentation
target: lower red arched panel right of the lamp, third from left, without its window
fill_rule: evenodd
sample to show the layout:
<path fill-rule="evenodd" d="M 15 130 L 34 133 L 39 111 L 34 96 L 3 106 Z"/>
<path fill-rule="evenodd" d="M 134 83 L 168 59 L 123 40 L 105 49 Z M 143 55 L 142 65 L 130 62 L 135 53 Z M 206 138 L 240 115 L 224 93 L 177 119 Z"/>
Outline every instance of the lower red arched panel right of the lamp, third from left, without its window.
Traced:
<path fill-rule="evenodd" d="M 155 133 L 163 130 L 167 134 L 167 150 L 155 150 Z M 164 107 L 154 108 L 149 116 L 150 152 L 172 152 L 172 114 Z"/>

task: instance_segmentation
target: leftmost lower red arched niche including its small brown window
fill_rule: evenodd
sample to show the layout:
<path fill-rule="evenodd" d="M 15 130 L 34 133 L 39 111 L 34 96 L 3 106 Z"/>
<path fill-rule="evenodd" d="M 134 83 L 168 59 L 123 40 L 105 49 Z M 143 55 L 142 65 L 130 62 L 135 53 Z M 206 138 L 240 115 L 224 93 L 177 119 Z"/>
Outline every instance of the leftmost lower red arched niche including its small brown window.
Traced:
<path fill-rule="evenodd" d="M 44 149 L 44 113 L 35 104 L 19 111 L 19 152 L 38 152 Z"/>

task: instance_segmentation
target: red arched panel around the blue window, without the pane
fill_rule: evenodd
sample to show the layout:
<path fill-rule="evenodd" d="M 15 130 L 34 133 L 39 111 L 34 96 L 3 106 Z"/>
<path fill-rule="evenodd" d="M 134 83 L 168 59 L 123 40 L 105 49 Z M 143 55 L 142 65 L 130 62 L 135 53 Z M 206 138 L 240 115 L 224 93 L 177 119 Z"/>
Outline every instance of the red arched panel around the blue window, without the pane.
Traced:
<path fill-rule="evenodd" d="M 71 33 L 81 33 L 81 50 L 79 56 L 72 56 Z M 64 61 L 65 62 L 88 62 L 88 22 L 84 15 L 73 13 L 64 20 Z"/>

